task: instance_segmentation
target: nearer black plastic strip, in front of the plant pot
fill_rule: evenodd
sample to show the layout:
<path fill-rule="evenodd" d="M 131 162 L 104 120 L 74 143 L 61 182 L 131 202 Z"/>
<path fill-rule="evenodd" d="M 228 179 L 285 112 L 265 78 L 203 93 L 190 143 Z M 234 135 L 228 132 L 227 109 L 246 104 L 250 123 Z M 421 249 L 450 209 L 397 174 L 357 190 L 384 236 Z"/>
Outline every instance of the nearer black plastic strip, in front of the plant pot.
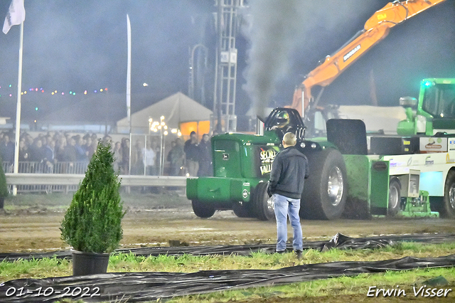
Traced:
<path fill-rule="evenodd" d="M 126 272 L 104 275 L 19 279 L 0 286 L 0 302 L 55 302 L 63 298 L 83 299 L 84 302 L 144 302 L 159 298 L 203 294 L 230 289 L 282 285 L 330 277 L 354 276 L 361 273 L 415 268 L 454 267 L 455 255 L 445 257 L 402 257 L 394 260 L 365 262 L 328 262 L 279 270 L 205 270 L 179 272 Z M 18 289 L 31 293 L 18 296 Z M 41 287 L 41 288 L 40 288 Z M 70 295 L 75 289 L 86 289 L 93 297 Z M 37 296 L 41 289 L 48 296 Z M 97 290 L 99 289 L 99 291 Z M 16 294 L 13 294 L 13 292 Z M 50 293 L 52 292 L 52 293 Z M 67 296 L 64 293 L 68 292 Z M 9 294 L 9 295 L 6 295 Z"/>

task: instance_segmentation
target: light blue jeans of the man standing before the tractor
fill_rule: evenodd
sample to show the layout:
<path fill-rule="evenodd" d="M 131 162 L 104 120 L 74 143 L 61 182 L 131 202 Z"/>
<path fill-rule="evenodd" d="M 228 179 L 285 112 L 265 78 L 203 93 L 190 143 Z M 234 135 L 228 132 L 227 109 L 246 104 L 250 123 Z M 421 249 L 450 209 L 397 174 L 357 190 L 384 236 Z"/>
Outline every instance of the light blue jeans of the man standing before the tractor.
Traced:
<path fill-rule="evenodd" d="M 287 198 L 274 193 L 272 195 L 274 203 L 275 218 L 277 219 L 277 251 L 286 250 L 287 241 L 287 217 L 291 221 L 293 233 L 292 247 L 294 251 L 302 250 L 303 235 L 300 225 L 300 199 Z"/>

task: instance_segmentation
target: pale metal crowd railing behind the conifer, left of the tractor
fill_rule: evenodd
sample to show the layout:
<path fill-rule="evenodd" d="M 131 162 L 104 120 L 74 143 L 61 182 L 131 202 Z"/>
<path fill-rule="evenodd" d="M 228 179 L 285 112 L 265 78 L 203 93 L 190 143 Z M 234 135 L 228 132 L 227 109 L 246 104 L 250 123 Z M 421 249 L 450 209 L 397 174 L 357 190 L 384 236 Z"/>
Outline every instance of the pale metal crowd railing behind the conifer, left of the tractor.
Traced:
<path fill-rule="evenodd" d="M 19 162 L 19 174 L 12 173 L 11 164 L 4 162 L 3 166 L 10 191 L 15 185 L 18 193 L 68 193 L 77 191 L 87 162 L 60 162 L 51 168 L 38 162 Z M 122 186 L 186 186 L 185 176 L 120 175 L 119 179 Z"/>

